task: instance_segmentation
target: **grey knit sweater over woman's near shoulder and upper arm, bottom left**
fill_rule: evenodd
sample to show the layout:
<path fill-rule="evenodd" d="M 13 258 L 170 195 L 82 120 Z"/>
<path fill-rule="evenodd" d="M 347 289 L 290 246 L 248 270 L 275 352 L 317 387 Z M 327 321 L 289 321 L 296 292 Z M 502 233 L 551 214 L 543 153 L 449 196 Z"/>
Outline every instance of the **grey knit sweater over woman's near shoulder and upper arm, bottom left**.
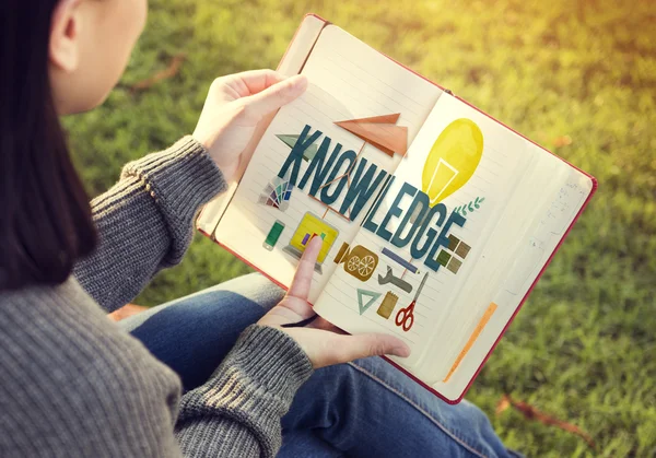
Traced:
<path fill-rule="evenodd" d="M 117 445 L 126 428 L 142 442 L 137 432 L 145 425 L 172 436 L 179 378 L 75 280 L 0 293 L 0 406 L 10 420 L 0 420 L 9 433 L 0 455 L 22 454 L 44 438 L 59 450 Z"/>

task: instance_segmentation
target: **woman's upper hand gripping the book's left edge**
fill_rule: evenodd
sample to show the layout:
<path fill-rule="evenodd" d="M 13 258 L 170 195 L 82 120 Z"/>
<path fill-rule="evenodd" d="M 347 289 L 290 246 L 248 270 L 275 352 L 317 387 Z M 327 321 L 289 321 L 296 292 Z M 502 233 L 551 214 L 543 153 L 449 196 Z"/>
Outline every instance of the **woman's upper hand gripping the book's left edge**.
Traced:
<path fill-rule="evenodd" d="M 306 87 L 305 77 L 285 78 L 273 70 L 219 78 L 210 86 L 192 136 L 206 146 L 230 180 L 239 167 L 239 157 L 257 124 L 298 97 Z"/>

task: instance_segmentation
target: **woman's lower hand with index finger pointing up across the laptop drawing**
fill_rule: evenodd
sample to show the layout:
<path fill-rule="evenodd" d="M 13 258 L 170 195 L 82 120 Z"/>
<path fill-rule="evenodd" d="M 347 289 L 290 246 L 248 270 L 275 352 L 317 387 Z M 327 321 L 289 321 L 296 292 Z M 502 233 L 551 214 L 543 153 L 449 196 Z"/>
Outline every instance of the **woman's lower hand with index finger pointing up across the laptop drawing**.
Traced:
<path fill-rule="evenodd" d="M 280 304 L 265 315 L 258 324 L 279 328 L 290 334 L 307 353 L 315 368 L 382 354 L 402 357 L 410 355 L 408 345 L 396 337 L 382 333 L 348 336 L 323 318 L 314 320 L 305 328 L 282 327 L 282 325 L 298 322 L 315 315 L 307 303 L 307 295 L 321 243 L 320 237 L 314 237 L 309 242 L 301 258 L 290 291 Z"/>

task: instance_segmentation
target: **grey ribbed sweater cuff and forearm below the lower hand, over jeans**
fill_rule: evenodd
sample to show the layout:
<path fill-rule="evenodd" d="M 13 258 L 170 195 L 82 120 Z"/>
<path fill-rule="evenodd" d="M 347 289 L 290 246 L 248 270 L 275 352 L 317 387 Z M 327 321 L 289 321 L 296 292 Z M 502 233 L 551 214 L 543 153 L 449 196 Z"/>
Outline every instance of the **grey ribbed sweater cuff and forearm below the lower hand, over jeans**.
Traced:
<path fill-rule="evenodd" d="M 184 455 L 276 456 L 280 419 L 312 372 L 291 337 L 248 327 L 210 380 L 183 397 L 176 438 Z"/>

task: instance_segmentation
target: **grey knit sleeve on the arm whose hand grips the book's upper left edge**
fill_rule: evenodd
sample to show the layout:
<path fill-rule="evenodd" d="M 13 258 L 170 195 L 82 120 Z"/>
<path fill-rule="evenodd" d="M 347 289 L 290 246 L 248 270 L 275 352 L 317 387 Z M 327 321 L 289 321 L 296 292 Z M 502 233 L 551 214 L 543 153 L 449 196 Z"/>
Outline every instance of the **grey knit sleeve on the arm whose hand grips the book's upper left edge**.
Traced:
<path fill-rule="evenodd" d="M 181 260 L 197 211 L 226 187 L 191 137 L 129 163 L 92 201 L 99 243 L 75 266 L 78 281 L 108 312 L 129 303 L 155 273 Z"/>

